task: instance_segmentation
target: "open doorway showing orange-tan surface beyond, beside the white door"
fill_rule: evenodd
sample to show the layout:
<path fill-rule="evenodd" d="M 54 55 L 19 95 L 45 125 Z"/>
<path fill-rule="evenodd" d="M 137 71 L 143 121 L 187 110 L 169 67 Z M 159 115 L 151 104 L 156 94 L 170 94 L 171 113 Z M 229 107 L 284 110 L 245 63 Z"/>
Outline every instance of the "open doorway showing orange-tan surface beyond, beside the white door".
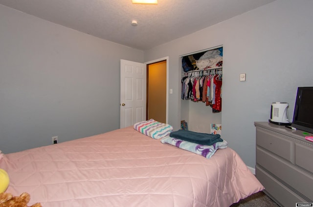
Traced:
<path fill-rule="evenodd" d="M 167 62 L 147 64 L 146 119 L 167 123 Z"/>

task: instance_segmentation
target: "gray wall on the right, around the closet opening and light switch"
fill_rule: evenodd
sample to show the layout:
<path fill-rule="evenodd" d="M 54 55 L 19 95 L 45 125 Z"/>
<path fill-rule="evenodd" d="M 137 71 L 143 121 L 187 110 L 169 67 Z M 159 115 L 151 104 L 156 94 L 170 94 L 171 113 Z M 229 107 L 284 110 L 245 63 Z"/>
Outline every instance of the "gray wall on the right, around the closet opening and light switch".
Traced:
<path fill-rule="evenodd" d="M 312 8 L 312 0 L 277 0 L 145 51 L 145 61 L 169 56 L 169 124 L 179 129 L 188 107 L 180 104 L 179 55 L 223 44 L 222 137 L 254 168 L 254 122 L 268 121 L 272 102 L 288 102 L 292 119 L 297 87 L 313 86 Z"/>

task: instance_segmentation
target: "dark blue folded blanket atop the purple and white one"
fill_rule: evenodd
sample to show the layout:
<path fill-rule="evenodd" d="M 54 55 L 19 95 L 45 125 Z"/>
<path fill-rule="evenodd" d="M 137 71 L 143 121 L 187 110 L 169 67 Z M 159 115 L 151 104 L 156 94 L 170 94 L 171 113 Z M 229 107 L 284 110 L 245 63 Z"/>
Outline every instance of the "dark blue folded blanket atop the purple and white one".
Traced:
<path fill-rule="evenodd" d="M 182 129 L 171 132 L 170 137 L 197 143 L 199 145 L 213 145 L 217 142 L 223 142 L 223 139 L 219 134 L 206 134 Z"/>

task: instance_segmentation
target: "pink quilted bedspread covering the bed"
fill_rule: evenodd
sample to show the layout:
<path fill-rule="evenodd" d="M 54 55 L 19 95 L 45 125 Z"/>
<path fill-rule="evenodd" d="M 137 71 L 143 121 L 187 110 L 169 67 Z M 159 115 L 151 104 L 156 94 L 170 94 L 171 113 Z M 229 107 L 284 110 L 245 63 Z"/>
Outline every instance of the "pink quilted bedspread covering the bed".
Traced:
<path fill-rule="evenodd" d="M 263 189 L 239 155 L 206 159 L 133 127 L 6 154 L 6 192 L 43 207 L 228 207 Z"/>

